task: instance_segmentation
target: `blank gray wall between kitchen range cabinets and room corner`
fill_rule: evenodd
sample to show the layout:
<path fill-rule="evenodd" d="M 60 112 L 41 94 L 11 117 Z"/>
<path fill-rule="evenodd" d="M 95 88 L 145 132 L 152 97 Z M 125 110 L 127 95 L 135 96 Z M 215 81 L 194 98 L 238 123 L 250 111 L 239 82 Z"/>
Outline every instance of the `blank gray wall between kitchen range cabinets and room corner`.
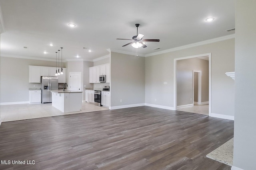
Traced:
<path fill-rule="evenodd" d="M 111 52 L 110 66 L 111 107 L 144 104 L 145 58 Z"/>

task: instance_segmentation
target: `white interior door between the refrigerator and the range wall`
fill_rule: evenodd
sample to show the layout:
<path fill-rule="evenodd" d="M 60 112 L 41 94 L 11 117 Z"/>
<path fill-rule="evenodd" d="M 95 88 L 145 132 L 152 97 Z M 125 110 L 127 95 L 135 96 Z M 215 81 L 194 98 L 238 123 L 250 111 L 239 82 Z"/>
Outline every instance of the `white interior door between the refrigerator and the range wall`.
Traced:
<path fill-rule="evenodd" d="M 69 87 L 71 91 L 82 91 L 82 79 L 81 79 L 81 72 L 70 72 L 69 73 L 70 79 L 69 79 Z"/>

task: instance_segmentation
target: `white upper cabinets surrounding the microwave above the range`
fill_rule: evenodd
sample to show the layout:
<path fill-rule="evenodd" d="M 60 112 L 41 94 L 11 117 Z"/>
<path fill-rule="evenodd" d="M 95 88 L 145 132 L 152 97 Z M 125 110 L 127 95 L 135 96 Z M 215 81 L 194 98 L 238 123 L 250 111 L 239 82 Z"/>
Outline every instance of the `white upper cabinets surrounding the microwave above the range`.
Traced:
<path fill-rule="evenodd" d="M 110 82 L 110 65 L 103 64 L 89 68 L 89 82 L 100 83 L 100 75 L 106 75 L 106 83 Z"/>

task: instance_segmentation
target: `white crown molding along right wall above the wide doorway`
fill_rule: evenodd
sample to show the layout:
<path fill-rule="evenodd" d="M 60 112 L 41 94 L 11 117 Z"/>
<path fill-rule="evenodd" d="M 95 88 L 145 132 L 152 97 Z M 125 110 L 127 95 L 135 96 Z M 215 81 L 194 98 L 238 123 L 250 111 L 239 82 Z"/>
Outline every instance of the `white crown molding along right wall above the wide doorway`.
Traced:
<path fill-rule="evenodd" d="M 224 41 L 224 40 L 233 39 L 233 38 L 235 38 L 235 34 L 230 34 L 230 35 L 226 35 L 226 36 L 222 36 L 222 37 L 218 37 L 218 38 L 214 38 L 214 39 L 208 39 L 208 40 L 205 40 L 205 41 L 200 41 L 200 42 L 197 42 L 197 43 L 182 45 L 180 47 L 175 47 L 175 48 L 172 48 L 172 49 L 167 49 L 167 50 L 158 51 L 158 52 L 155 52 L 155 53 L 150 53 L 150 54 L 145 55 L 145 57 L 150 57 L 150 56 L 153 56 L 153 55 L 169 53 L 169 52 L 172 52 L 172 51 L 178 51 L 178 50 L 182 50 L 182 49 L 188 49 L 188 48 L 191 48 L 191 47 L 197 47 L 197 46 L 200 46 L 200 45 L 206 45 L 206 44 L 210 44 L 210 43 L 216 43 L 216 42 L 219 42 L 219 41 Z"/>

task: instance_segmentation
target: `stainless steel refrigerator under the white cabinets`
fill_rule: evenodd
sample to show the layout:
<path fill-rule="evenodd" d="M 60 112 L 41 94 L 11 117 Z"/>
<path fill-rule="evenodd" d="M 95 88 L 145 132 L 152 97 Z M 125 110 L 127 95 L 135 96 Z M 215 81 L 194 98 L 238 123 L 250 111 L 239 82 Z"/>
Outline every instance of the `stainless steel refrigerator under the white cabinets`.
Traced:
<path fill-rule="evenodd" d="M 50 90 L 58 90 L 58 77 L 41 76 L 42 104 L 52 102 Z"/>

